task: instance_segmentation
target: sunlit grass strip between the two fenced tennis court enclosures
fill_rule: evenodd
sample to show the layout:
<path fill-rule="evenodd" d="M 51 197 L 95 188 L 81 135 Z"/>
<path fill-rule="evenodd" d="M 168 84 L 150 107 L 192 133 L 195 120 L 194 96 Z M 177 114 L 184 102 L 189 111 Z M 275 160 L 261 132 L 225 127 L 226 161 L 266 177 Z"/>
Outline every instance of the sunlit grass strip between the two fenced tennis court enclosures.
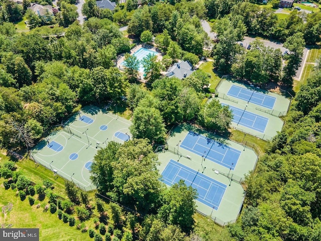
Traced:
<path fill-rule="evenodd" d="M 254 149 L 256 154 L 259 156 L 262 156 L 265 153 L 265 147 L 267 142 L 264 140 L 261 140 L 255 136 L 252 136 L 250 134 L 246 134 L 239 130 L 234 130 L 233 128 L 230 129 L 232 135 L 231 140 L 246 143 L 246 146 L 251 147 Z M 244 139 L 244 140 L 243 140 Z"/>

